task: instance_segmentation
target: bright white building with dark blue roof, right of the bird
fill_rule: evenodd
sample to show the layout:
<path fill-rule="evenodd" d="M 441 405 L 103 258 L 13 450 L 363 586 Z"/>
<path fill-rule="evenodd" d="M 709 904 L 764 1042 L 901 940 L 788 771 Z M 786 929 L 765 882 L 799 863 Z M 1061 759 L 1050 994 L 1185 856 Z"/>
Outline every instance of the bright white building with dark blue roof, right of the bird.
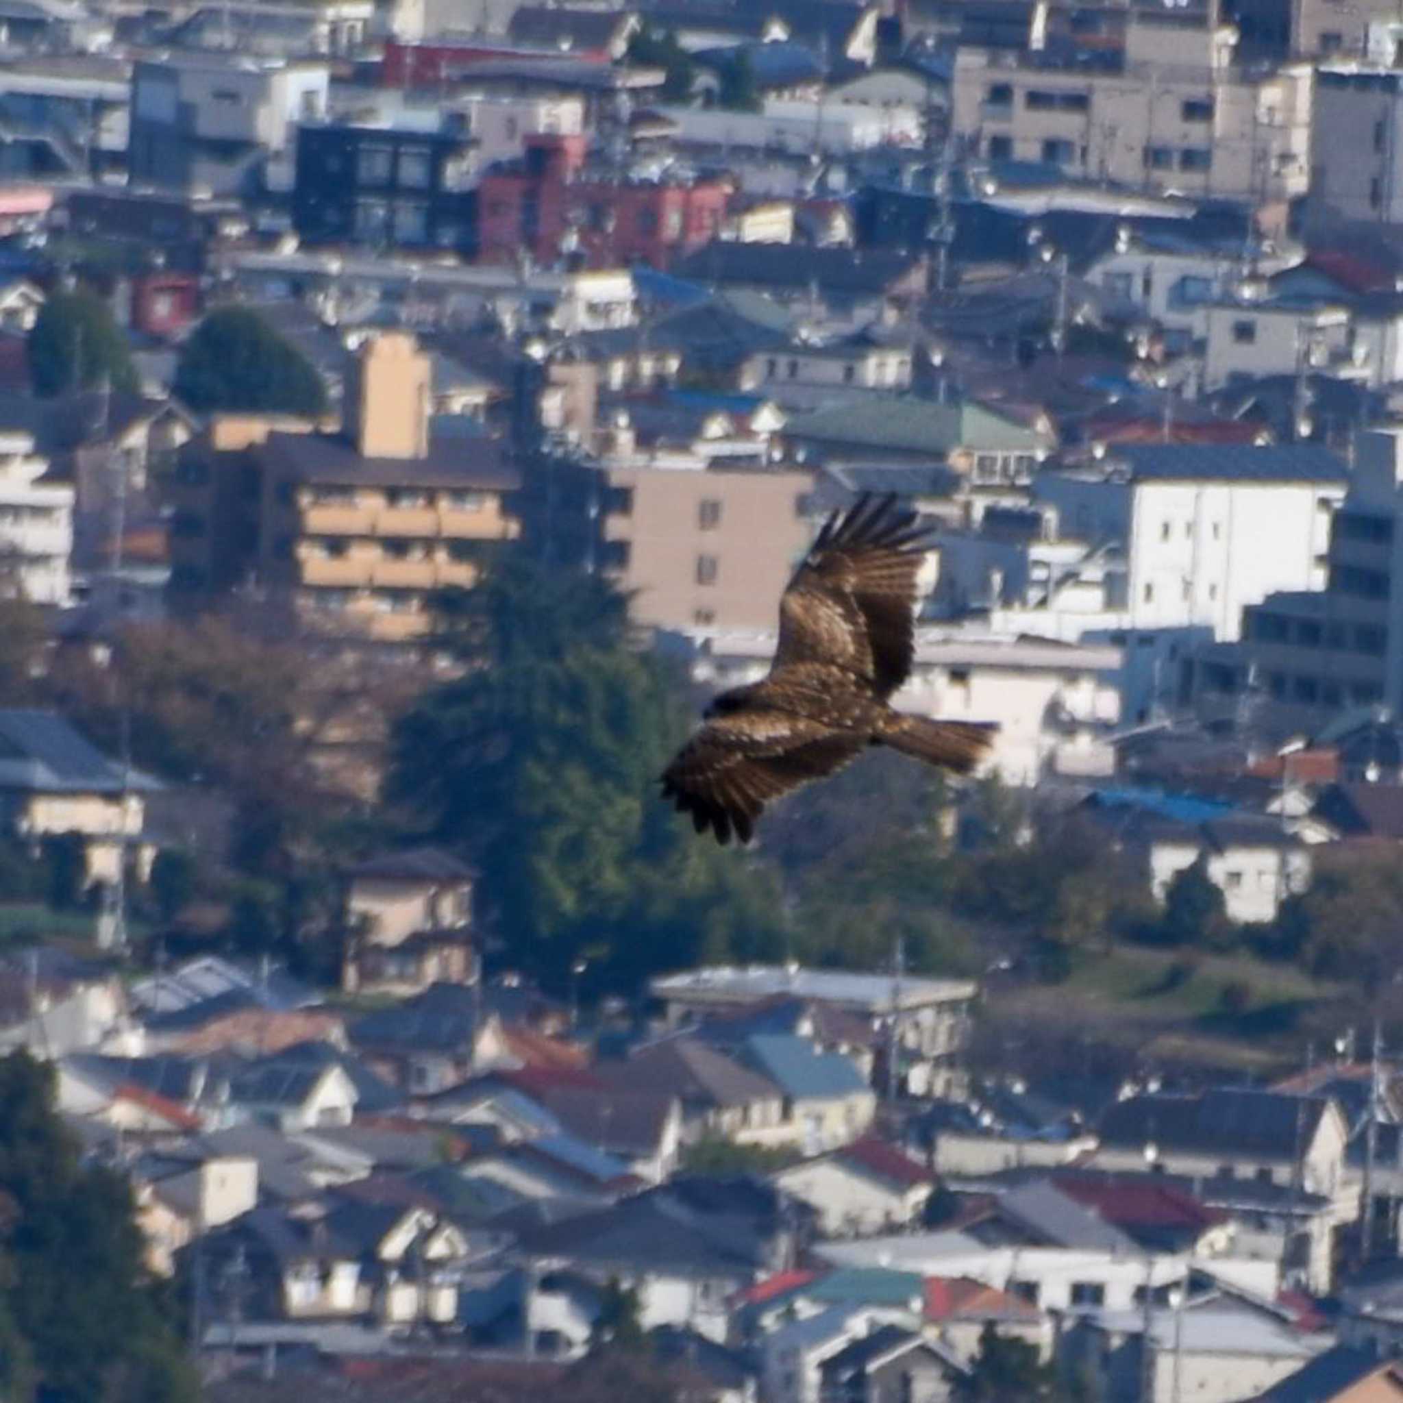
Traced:
<path fill-rule="evenodd" d="M 1313 445 L 1136 445 L 1038 476 L 1062 530 L 1118 542 L 1128 626 L 1211 627 L 1240 637 L 1242 612 L 1275 591 L 1323 589 L 1345 466 Z"/>

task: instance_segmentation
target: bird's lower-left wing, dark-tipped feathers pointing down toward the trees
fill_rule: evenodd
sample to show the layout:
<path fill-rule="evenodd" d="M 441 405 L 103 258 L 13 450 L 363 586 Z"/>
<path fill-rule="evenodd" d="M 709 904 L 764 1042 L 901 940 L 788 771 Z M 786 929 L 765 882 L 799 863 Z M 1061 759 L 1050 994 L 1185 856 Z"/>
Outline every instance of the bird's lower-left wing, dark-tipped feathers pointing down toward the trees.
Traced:
<path fill-rule="evenodd" d="M 835 734 L 821 721 L 763 707 L 742 709 L 706 723 L 662 774 L 662 797 L 690 814 L 699 833 L 718 842 L 751 840 L 770 800 L 843 769 L 864 739 Z"/>

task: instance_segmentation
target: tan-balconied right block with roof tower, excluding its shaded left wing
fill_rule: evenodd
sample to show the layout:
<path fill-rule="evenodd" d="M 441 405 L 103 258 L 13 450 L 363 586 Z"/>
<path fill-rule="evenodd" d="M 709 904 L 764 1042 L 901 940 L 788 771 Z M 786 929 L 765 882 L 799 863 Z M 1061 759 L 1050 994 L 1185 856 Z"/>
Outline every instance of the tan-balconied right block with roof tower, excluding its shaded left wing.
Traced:
<path fill-rule="evenodd" d="M 429 596 L 470 588 L 518 535 L 516 470 L 491 439 L 431 432 L 429 373 L 412 337 L 373 337 L 342 432 L 272 432 L 258 448 L 260 579 L 320 629 L 419 637 Z"/>

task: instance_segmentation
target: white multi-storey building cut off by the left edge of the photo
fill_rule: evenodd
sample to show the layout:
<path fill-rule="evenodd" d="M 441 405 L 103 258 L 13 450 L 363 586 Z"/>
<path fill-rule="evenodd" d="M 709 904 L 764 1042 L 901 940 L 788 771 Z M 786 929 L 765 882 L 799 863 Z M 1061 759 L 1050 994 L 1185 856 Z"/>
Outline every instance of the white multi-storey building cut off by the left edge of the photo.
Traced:
<path fill-rule="evenodd" d="M 0 593 L 66 605 L 72 588 L 73 484 L 46 477 L 34 435 L 0 434 Z"/>

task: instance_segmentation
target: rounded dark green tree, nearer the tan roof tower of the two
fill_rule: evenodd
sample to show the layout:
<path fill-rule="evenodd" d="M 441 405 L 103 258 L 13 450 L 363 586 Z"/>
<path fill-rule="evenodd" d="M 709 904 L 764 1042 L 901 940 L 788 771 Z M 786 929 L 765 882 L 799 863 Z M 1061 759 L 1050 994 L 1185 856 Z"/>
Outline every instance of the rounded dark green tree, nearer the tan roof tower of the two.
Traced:
<path fill-rule="evenodd" d="M 175 394 L 201 414 L 325 412 L 327 390 L 311 362 L 257 311 L 222 307 L 181 349 Z"/>

